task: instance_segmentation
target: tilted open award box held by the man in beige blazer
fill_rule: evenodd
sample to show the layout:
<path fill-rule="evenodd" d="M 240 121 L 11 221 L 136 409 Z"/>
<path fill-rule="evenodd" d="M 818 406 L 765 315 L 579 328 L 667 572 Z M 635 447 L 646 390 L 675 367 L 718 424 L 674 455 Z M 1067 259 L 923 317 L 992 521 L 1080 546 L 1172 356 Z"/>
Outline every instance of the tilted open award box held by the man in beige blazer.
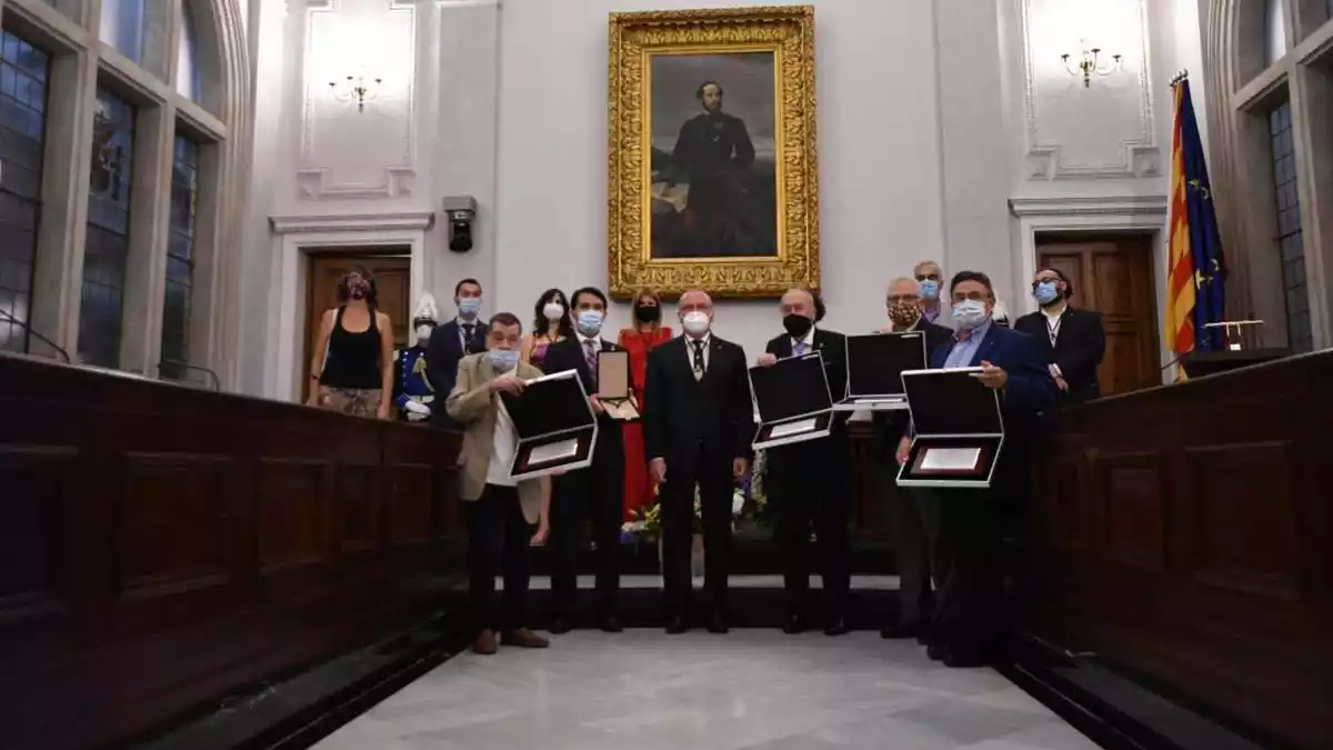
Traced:
<path fill-rule="evenodd" d="M 532 479 L 585 468 L 597 444 L 597 418 L 579 372 L 567 370 L 528 380 L 523 394 L 501 392 L 519 446 L 511 479 Z"/>

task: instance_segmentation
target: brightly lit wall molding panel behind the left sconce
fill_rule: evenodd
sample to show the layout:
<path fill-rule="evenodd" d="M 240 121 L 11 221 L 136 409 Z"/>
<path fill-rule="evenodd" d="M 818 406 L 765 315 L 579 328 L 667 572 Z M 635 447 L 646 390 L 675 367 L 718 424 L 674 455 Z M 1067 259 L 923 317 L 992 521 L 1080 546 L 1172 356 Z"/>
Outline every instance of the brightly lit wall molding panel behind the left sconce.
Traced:
<path fill-rule="evenodd" d="M 340 31 L 331 31 L 331 24 Z M 344 35 L 344 27 L 356 31 Z M 296 171 L 301 200 L 413 195 L 417 173 L 416 35 L 417 13 L 412 0 L 307 1 L 301 156 Z M 328 79 L 333 73 L 325 69 L 331 55 L 325 45 L 336 48 L 339 56 L 345 48 L 363 52 L 360 61 L 348 56 L 349 71 L 359 64 L 391 60 L 388 69 L 368 71 L 371 76 L 384 73 L 385 83 L 380 96 L 367 100 L 365 111 L 359 112 L 351 104 L 332 104 Z M 400 52 L 385 55 L 385 49 Z M 349 177 L 347 172 L 360 176 Z"/>

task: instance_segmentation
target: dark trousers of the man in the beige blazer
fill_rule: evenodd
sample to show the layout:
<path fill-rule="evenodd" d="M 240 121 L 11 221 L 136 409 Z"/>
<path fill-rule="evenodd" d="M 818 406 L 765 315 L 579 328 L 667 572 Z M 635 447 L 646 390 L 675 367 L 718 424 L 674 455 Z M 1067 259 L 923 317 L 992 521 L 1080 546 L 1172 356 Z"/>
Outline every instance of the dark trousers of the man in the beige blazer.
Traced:
<path fill-rule="evenodd" d="M 464 503 L 468 515 L 468 594 L 479 630 L 527 627 L 532 526 L 516 487 L 487 484 Z M 504 571 L 504 611 L 496 606 L 496 575 Z"/>

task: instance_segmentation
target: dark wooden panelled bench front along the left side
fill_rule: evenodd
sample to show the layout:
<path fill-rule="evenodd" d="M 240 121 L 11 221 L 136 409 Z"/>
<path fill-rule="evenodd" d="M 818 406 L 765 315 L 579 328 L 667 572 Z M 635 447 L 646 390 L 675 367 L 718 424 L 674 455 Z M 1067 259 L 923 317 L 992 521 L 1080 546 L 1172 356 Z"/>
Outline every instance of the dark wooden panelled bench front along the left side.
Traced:
<path fill-rule="evenodd" d="M 0 356 L 0 715 L 103 746 L 424 617 L 459 435 Z"/>

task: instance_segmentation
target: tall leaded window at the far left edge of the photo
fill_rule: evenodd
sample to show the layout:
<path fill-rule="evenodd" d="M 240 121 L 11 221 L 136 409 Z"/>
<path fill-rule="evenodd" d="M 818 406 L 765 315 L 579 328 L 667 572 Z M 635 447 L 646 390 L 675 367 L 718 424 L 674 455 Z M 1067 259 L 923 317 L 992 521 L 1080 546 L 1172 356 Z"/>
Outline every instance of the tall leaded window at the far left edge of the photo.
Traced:
<path fill-rule="evenodd" d="M 0 32 L 0 350 L 28 351 L 51 56 Z"/>

